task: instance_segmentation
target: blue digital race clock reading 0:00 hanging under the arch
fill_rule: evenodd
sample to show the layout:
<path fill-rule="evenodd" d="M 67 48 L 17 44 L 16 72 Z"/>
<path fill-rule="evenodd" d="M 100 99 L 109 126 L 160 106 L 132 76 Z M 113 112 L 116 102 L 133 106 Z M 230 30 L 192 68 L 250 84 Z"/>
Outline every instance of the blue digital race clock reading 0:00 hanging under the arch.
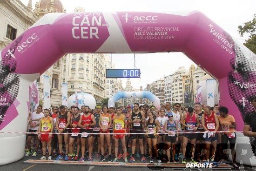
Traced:
<path fill-rule="evenodd" d="M 140 69 L 107 69 L 106 78 L 140 78 Z"/>

